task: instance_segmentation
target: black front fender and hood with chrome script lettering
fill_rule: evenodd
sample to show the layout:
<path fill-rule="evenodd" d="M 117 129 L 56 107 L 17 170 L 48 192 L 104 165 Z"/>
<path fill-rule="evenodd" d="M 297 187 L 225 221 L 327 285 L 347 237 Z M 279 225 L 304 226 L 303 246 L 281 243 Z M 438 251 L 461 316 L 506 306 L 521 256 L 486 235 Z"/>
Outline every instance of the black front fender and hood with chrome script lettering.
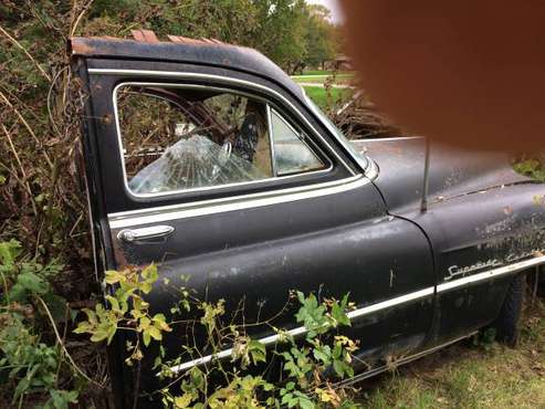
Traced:
<path fill-rule="evenodd" d="M 509 155 L 430 148 L 429 209 L 420 211 L 423 138 L 356 141 L 379 164 L 375 180 L 390 213 L 429 238 L 438 273 L 437 343 L 497 316 L 510 277 L 441 292 L 468 275 L 515 264 L 544 249 L 542 183 L 515 172 Z M 441 285 L 443 285 L 441 287 Z"/>

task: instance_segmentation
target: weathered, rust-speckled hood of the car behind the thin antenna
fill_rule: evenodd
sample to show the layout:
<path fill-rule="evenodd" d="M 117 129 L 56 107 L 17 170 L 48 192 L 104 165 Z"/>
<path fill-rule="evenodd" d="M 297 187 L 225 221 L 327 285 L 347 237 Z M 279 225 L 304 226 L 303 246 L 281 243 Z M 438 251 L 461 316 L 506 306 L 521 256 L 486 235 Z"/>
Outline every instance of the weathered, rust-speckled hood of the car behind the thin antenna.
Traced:
<path fill-rule="evenodd" d="M 402 213 L 419 207 L 422 195 L 425 138 L 354 140 L 380 167 L 376 185 L 390 211 Z M 468 151 L 446 146 L 430 147 L 428 203 L 531 180 L 513 170 L 511 157 L 499 153 Z"/>

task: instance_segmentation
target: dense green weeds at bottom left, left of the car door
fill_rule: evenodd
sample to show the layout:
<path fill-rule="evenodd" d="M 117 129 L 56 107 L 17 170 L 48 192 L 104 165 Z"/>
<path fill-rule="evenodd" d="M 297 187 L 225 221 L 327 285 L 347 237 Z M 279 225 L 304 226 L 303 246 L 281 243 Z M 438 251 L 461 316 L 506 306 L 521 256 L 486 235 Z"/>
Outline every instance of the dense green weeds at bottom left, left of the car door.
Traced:
<path fill-rule="evenodd" d="M 19 408 L 36 395 L 48 397 L 43 408 L 67 408 L 77 401 L 83 382 L 94 381 L 67 354 L 61 335 L 73 314 L 50 280 L 63 265 L 42 265 L 21 250 L 15 240 L 0 242 L 0 381 Z M 54 339 L 48 339 L 51 328 Z"/>

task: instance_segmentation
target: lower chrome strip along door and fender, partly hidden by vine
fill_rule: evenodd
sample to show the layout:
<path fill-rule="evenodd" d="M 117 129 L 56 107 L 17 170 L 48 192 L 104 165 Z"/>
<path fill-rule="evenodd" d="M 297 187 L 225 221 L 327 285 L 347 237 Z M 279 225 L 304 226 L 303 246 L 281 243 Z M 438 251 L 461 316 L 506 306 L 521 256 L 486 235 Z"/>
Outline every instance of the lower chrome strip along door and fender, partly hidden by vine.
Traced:
<path fill-rule="evenodd" d="M 526 270 L 526 269 L 535 266 L 535 265 L 544 264 L 544 263 L 545 263 L 545 255 L 535 256 L 535 258 L 530 259 L 530 260 L 524 260 L 524 261 L 520 261 L 517 263 L 501 266 L 499 269 L 493 269 L 493 270 L 490 270 L 490 271 L 484 272 L 484 273 L 473 274 L 473 275 L 470 275 L 470 276 L 467 276 L 463 279 L 458 279 L 453 282 L 440 284 L 437 286 L 437 290 L 434 286 L 429 286 L 429 287 L 426 287 L 423 290 L 419 290 L 419 291 L 416 291 L 412 293 L 397 296 L 395 298 L 390 298 L 390 300 L 382 301 L 382 302 L 379 302 L 376 304 L 367 305 L 365 307 L 360 307 L 360 308 L 350 311 L 347 315 L 350 319 L 359 318 L 361 316 L 366 316 L 366 315 L 369 315 L 373 313 L 388 310 L 388 308 L 391 308 L 391 307 L 395 307 L 395 306 L 398 306 L 401 304 L 415 302 L 418 300 L 425 300 L 425 298 L 428 298 L 428 297 L 434 295 L 436 293 L 440 294 L 442 292 L 447 292 L 447 291 L 450 291 L 450 290 L 453 290 L 453 289 L 457 289 L 460 286 L 470 285 L 470 284 L 482 282 L 482 281 L 493 280 L 493 279 L 496 279 L 497 276 L 515 274 L 520 271 Z M 306 333 L 306 328 L 304 326 L 295 327 L 295 328 L 286 332 L 286 334 L 289 334 L 291 336 L 301 336 L 305 333 Z M 271 336 L 258 339 L 258 340 L 264 345 L 270 345 L 270 344 L 276 343 L 279 339 L 280 339 L 280 335 L 271 335 Z M 453 342 L 455 342 L 455 340 L 453 340 Z M 436 347 L 436 348 L 438 348 L 438 347 Z M 198 359 L 188 360 L 184 364 L 176 365 L 169 369 L 172 370 L 175 374 L 177 374 L 177 373 L 180 373 L 182 370 L 189 369 L 193 366 L 207 364 L 207 363 L 211 361 L 212 359 L 227 358 L 227 357 L 231 356 L 231 353 L 232 353 L 232 348 L 228 348 L 228 349 L 219 352 L 216 355 L 212 354 L 212 355 L 203 356 L 203 357 L 198 358 Z M 420 353 L 420 354 L 422 354 L 422 353 Z M 417 356 L 419 356 L 420 354 L 417 354 Z M 157 374 L 157 375 L 159 375 L 159 374 Z"/>

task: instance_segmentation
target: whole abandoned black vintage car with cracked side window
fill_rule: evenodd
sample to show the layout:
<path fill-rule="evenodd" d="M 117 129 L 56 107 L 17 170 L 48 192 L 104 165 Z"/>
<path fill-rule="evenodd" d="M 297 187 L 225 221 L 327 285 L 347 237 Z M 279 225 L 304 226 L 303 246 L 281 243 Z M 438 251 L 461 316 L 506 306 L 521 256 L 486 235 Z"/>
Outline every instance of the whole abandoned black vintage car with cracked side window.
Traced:
<path fill-rule="evenodd" d="M 514 342 L 522 273 L 545 263 L 543 185 L 503 155 L 431 146 L 427 167 L 423 138 L 349 141 L 256 51 L 170 40 L 71 40 L 88 93 L 97 271 L 157 263 L 227 311 L 243 298 L 248 319 L 281 311 L 290 290 L 349 293 L 366 363 L 355 379 L 489 325 Z M 148 301 L 161 312 L 174 296 Z M 304 332 L 290 316 L 275 325 Z M 264 344 L 271 334 L 251 331 Z M 126 397 L 118 338 L 114 386 Z M 180 339 L 175 329 L 165 343 Z M 143 388 L 154 377 L 146 369 Z"/>

